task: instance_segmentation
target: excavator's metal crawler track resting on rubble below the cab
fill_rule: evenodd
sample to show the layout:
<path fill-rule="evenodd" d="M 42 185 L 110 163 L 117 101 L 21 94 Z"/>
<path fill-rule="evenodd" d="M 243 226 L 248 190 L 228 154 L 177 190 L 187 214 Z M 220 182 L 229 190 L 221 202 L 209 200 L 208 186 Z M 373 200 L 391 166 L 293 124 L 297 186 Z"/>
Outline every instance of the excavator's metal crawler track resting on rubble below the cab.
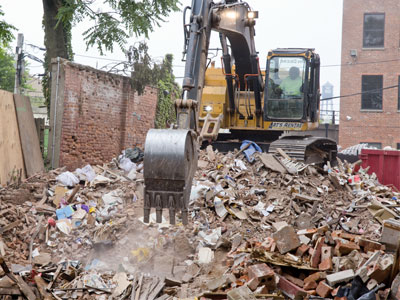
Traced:
<path fill-rule="evenodd" d="M 282 149 L 288 156 L 306 164 L 335 162 L 337 155 L 336 141 L 316 136 L 287 135 L 272 142 L 269 153 Z"/>

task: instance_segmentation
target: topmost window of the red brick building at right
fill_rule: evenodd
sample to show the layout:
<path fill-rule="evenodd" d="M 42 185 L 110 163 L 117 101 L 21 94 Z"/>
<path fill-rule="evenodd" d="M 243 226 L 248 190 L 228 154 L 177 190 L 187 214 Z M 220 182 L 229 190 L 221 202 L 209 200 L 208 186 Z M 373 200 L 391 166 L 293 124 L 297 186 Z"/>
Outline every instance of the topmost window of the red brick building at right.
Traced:
<path fill-rule="evenodd" d="M 364 14 L 364 48 L 383 48 L 385 37 L 385 14 Z"/>

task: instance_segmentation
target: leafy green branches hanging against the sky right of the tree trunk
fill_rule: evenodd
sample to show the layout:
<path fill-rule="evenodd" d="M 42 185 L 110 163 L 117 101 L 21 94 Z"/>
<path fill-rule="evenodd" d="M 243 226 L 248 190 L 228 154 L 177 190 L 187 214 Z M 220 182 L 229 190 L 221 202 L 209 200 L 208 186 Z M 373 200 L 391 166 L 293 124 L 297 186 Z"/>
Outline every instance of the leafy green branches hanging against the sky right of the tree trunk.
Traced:
<path fill-rule="evenodd" d="M 85 18 L 94 25 L 83 33 L 87 47 L 97 46 L 101 54 L 112 51 L 114 43 L 121 49 L 130 36 L 148 34 L 159 26 L 163 18 L 178 11 L 178 0 L 104 0 L 109 11 L 93 8 L 96 0 L 63 0 L 57 18 L 63 24 L 76 24 Z"/>

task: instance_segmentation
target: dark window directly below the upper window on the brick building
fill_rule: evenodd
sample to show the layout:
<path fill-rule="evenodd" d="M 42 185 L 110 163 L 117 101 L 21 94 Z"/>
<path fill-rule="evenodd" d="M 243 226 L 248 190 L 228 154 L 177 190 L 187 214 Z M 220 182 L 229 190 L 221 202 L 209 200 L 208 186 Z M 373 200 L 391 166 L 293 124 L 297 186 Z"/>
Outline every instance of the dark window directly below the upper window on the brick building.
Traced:
<path fill-rule="evenodd" d="M 361 109 L 382 110 L 382 75 L 362 75 Z"/>

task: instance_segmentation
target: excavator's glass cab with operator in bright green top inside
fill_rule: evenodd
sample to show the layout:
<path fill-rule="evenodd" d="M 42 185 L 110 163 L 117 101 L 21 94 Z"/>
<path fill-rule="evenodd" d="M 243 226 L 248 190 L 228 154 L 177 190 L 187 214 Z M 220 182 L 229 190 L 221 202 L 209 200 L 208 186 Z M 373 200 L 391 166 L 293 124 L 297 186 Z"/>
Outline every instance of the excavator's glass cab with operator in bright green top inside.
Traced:
<path fill-rule="evenodd" d="M 314 49 L 283 48 L 268 53 L 264 120 L 318 122 L 319 56 Z"/>

